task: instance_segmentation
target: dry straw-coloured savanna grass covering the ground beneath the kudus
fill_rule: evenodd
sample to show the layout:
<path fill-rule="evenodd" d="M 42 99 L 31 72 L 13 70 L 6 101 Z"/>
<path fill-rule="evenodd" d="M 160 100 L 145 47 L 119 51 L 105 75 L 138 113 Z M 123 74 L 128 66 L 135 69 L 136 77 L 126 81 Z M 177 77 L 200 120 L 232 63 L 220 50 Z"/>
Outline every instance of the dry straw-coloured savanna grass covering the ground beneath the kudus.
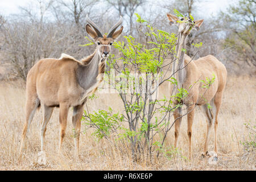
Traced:
<path fill-rule="evenodd" d="M 249 76 L 229 76 L 220 113 L 218 115 L 218 161 L 216 165 L 208 163 L 209 157 L 203 158 L 201 151 L 207 129 L 206 118 L 197 107 L 192 128 L 192 159 L 188 156 L 187 121 L 183 118 L 179 139 L 179 154 L 158 159 L 133 162 L 126 144 L 118 146 L 113 141 L 97 141 L 89 129 L 80 135 L 80 159 L 73 158 L 72 110 L 69 110 L 68 126 L 64 139 L 64 155 L 58 155 L 59 145 L 59 109 L 55 109 L 46 131 L 46 166 L 37 166 L 40 151 L 40 123 L 42 110 L 39 110 L 31 123 L 27 147 L 22 161 L 18 163 L 20 138 L 23 129 L 24 106 L 26 101 L 24 85 L 18 81 L 0 82 L 0 169 L 1 170 L 255 170 L 255 148 L 247 152 L 241 142 L 254 140 L 244 123 L 255 125 L 256 78 Z M 168 87 L 162 88 L 168 92 Z M 117 94 L 96 93 L 97 98 L 88 100 L 90 111 L 108 109 L 121 111 L 122 103 Z M 85 126 L 81 126 L 84 130 Z M 213 150 L 214 127 L 210 133 L 208 151 Z M 166 146 L 174 144 L 174 128 L 166 140 Z M 155 154 L 153 154 L 155 156 Z"/>

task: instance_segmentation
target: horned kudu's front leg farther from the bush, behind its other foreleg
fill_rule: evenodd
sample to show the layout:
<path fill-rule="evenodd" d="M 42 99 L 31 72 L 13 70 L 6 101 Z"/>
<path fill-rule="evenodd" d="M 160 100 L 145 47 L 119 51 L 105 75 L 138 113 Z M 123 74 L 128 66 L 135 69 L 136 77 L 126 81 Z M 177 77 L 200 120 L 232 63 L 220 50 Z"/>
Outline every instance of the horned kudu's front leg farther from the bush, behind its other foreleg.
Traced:
<path fill-rule="evenodd" d="M 69 106 L 65 104 L 60 104 L 60 143 L 59 143 L 59 154 L 62 151 L 62 143 L 63 143 L 63 138 L 65 136 L 65 130 L 67 127 L 67 118 L 68 118 L 68 109 Z"/>

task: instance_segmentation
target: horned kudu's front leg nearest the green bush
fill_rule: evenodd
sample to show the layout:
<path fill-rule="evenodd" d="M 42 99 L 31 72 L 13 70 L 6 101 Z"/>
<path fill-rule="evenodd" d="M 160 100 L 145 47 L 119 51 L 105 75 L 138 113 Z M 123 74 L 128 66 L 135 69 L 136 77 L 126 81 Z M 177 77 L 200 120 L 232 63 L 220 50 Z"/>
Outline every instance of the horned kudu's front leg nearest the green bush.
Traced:
<path fill-rule="evenodd" d="M 81 129 L 81 118 L 84 112 L 84 104 L 73 107 L 73 129 L 74 129 L 74 143 L 75 143 L 75 158 L 79 156 L 79 137 Z"/>

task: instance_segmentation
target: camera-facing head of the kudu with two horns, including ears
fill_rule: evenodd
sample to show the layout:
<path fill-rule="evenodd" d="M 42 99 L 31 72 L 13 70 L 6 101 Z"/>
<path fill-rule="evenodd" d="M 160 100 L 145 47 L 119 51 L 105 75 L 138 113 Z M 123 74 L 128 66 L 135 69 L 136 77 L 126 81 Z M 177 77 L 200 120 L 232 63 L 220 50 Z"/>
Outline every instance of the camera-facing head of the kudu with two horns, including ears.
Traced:
<path fill-rule="evenodd" d="M 121 35 L 123 26 L 119 30 L 117 28 L 122 22 L 123 18 L 120 16 L 118 22 L 110 28 L 108 35 L 105 35 L 101 33 L 100 28 L 86 15 L 86 32 L 96 43 L 97 53 L 102 59 L 105 60 L 109 56 L 113 42 Z"/>

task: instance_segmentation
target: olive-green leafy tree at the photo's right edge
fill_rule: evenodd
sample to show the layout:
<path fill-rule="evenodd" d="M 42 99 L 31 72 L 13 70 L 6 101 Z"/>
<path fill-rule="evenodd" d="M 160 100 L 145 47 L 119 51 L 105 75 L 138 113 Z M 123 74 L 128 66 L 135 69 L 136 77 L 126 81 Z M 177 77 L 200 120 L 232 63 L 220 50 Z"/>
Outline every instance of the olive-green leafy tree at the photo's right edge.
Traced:
<path fill-rule="evenodd" d="M 240 0 L 237 6 L 230 6 L 227 13 L 222 12 L 220 15 L 228 30 L 224 48 L 236 51 L 232 61 L 239 65 L 246 61 L 250 67 L 256 67 L 255 12 L 256 1 Z"/>

